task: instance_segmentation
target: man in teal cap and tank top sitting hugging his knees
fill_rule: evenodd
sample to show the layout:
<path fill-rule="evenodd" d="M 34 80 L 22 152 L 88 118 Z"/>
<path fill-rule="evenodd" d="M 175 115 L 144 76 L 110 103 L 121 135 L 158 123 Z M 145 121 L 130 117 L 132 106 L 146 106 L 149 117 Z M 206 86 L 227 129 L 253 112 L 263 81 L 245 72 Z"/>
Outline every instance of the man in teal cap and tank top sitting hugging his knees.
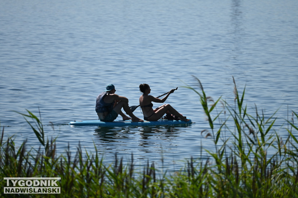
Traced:
<path fill-rule="evenodd" d="M 115 94 L 116 89 L 113 84 L 108 84 L 104 92 L 100 93 L 96 98 L 95 111 L 100 121 L 112 122 L 118 114 L 122 116 L 123 120 L 130 120 L 133 122 L 143 122 L 144 120 L 136 117 L 128 106 L 128 99 Z M 126 116 L 121 109 L 125 111 L 130 117 Z"/>

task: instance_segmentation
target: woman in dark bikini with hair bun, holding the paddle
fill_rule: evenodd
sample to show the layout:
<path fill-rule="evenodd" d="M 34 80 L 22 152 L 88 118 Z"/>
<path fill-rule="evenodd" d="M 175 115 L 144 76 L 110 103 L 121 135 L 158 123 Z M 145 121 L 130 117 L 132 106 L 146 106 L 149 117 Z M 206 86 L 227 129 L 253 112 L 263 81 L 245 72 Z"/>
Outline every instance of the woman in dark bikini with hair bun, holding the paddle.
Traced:
<path fill-rule="evenodd" d="M 174 116 L 177 116 L 180 118 L 180 120 L 183 121 L 189 121 L 189 119 L 186 119 L 184 116 L 178 113 L 171 105 L 164 104 L 160 107 L 157 107 L 156 109 L 153 109 L 152 102 L 155 103 L 164 103 L 165 100 L 169 97 L 171 93 L 173 93 L 176 89 L 172 89 L 164 98 L 159 99 L 155 98 L 150 94 L 150 87 L 148 84 L 140 84 L 139 86 L 140 91 L 143 93 L 143 95 L 139 98 L 140 107 L 143 111 L 144 120 L 148 121 L 157 121 L 159 120 L 165 113 L 173 114 Z"/>

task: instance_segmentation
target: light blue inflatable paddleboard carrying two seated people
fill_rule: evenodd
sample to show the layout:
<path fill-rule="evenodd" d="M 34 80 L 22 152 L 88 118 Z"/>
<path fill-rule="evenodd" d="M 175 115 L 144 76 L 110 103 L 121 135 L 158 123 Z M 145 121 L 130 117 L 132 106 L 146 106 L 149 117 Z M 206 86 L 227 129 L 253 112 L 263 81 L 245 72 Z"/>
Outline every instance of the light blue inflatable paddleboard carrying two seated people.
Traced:
<path fill-rule="evenodd" d="M 113 122 L 102 122 L 100 120 L 84 120 L 69 122 L 73 126 L 158 126 L 158 125 L 182 125 L 191 124 L 191 120 L 185 122 L 181 120 L 157 120 L 132 122 L 131 120 L 114 120 Z"/>

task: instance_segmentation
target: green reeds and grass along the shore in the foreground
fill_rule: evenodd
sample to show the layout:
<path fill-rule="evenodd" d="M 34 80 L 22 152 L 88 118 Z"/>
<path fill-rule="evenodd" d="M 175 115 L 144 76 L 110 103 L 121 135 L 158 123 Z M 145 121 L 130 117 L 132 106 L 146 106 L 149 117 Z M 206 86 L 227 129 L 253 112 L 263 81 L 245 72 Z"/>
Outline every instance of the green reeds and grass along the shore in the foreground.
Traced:
<path fill-rule="evenodd" d="M 0 196 L 298 197 L 298 141 L 293 135 L 293 131 L 298 131 L 294 125 L 298 115 L 292 112 L 291 120 L 285 120 L 288 127 L 283 130 L 288 138 L 283 140 L 274 130 L 274 115 L 267 119 L 257 107 L 254 116 L 247 113 L 247 106 L 243 105 L 245 88 L 239 95 L 234 78 L 234 108 L 221 97 L 216 101 L 207 97 L 201 82 L 196 80 L 199 91 L 188 85 L 185 88 L 198 94 L 209 121 L 209 128 L 201 132 L 214 142 L 215 152 L 207 150 L 208 160 L 191 158 L 183 169 L 167 174 L 149 162 L 142 170 L 136 170 L 133 155 L 127 165 L 117 155 L 114 164 L 104 165 L 96 150 L 92 154 L 83 152 L 80 144 L 75 155 L 68 149 L 65 155 L 57 156 L 55 139 L 45 139 L 41 120 L 27 110 L 28 114 L 20 114 L 41 146 L 28 150 L 24 141 L 16 149 L 12 137 L 4 140 L 3 127 Z M 4 194 L 4 177 L 61 177 L 61 194 Z"/>

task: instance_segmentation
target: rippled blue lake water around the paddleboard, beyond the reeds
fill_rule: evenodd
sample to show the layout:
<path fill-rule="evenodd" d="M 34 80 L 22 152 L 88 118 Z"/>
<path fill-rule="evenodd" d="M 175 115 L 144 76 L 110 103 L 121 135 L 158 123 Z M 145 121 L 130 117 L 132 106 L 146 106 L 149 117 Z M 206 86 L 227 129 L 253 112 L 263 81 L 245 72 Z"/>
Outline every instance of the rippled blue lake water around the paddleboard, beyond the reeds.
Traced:
<path fill-rule="evenodd" d="M 106 163 L 114 155 L 136 166 L 154 162 L 171 171 L 184 159 L 208 157 L 214 149 L 192 75 L 208 96 L 233 106 L 234 76 L 244 103 L 270 117 L 275 129 L 298 113 L 298 1 L 0 1 L 0 124 L 16 146 L 28 139 L 39 146 L 24 118 L 41 112 L 46 135 L 58 137 L 58 153 L 69 143 Z M 189 126 L 72 127 L 73 120 L 96 120 L 95 99 L 113 83 L 117 94 L 138 105 L 139 84 L 158 96 L 179 87 L 165 103 L 192 119 Z M 158 104 L 154 104 L 155 107 Z M 139 109 L 135 112 L 142 118 Z M 50 126 L 54 124 L 54 129 Z M 296 120 L 297 122 L 297 120 Z M 2 131 L 2 127 L 1 127 Z M 297 131 L 294 134 L 298 135 Z M 203 148 L 201 156 L 201 145 Z"/>

